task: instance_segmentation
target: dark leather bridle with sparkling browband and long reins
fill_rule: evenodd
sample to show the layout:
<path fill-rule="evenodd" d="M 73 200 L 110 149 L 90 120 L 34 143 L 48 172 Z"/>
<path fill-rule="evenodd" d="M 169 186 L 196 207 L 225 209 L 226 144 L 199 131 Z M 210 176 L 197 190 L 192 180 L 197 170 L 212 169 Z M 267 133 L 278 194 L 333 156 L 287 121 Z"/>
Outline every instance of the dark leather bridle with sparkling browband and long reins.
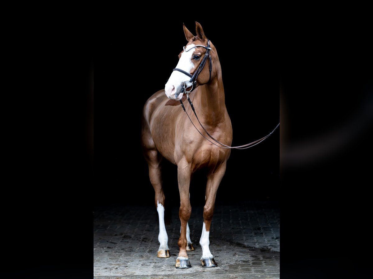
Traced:
<path fill-rule="evenodd" d="M 211 50 L 211 48 L 210 48 L 210 41 L 209 41 L 209 39 L 207 39 L 207 47 L 204 46 L 204 45 L 195 45 L 194 47 L 191 47 L 191 48 L 189 48 L 188 50 L 185 50 L 185 47 L 183 47 L 183 49 L 184 49 L 185 52 L 188 52 L 188 51 L 190 51 L 192 48 L 196 48 L 196 47 L 203 47 L 203 48 L 206 48 L 207 51 L 206 51 L 206 54 L 204 55 L 203 60 L 201 61 L 200 65 L 198 66 L 197 70 L 194 71 L 193 75 L 191 75 L 190 73 L 188 73 L 188 72 L 186 72 L 186 71 L 184 71 L 184 70 L 178 69 L 178 68 L 173 69 L 173 71 L 179 71 L 179 72 L 181 72 L 181 73 L 183 73 L 183 74 L 186 74 L 188 77 L 190 77 L 189 82 L 192 83 L 192 89 L 189 90 L 189 91 L 187 91 L 187 90 L 186 90 L 187 87 L 186 87 L 186 84 L 185 84 L 185 81 L 184 81 L 184 94 L 186 94 L 186 99 L 188 99 L 188 102 L 189 102 L 189 104 L 190 104 L 190 106 L 191 106 L 191 108 L 192 108 L 192 110 L 193 110 L 193 112 L 194 112 L 195 117 L 196 117 L 197 120 L 198 120 L 198 123 L 201 125 L 202 129 L 206 132 L 206 134 L 207 134 L 207 135 L 211 138 L 211 140 L 213 140 L 214 142 L 210 141 L 207 137 L 205 137 L 205 136 L 200 132 L 200 130 L 197 129 L 197 127 L 194 125 L 192 119 L 191 119 L 190 116 L 188 115 L 188 112 L 186 112 L 185 107 L 184 107 L 184 104 L 183 104 L 183 101 L 180 99 L 181 106 L 182 106 L 182 108 L 184 109 L 186 115 L 188 116 L 190 122 L 193 124 L 194 128 L 195 128 L 195 129 L 196 129 L 196 130 L 197 130 L 197 131 L 202 135 L 202 137 L 206 138 L 206 140 L 208 140 L 208 141 L 211 142 L 212 144 L 216 145 L 217 147 L 220 147 L 220 148 L 227 148 L 227 149 L 231 149 L 231 148 L 235 148 L 235 149 L 246 149 L 246 148 L 250 148 L 250 147 L 253 147 L 254 145 L 257 145 L 258 143 L 264 141 L 266 138 L 268 138 L 268 137 L 269 137 L 269 136 L 270 136 L 270 135 L 271 135 L 271 134 L 272 134 L 272 133 L 273 133 L 273 132 L 278 128 L 278 126 L 280 125 L 280 123 L 277 124 L 276 128 L 273 129 L 273 131 L 270 132 L 270 133 L 269 133 L 268 135 L 266 135 L 265 137 L 263 137 L 263 138 L 261 138 L 261 139 L 259 139 L 259 140 L 256 140 L 256 141 L 253 141 L 253 142 L 250 142 L 250 143 L 248 143 L 248 144 L 239 145 L 239 146 L 229 146 L 229 145 L 225 145 L 225 144 L 221 143 L 220 141 L 216 140 L 215 138 L 213 138 L 213 137 L 209 134 L 209 132 L 206 131 L 206 129 L 204 128 L 204 126 L 201 124 L 200 119 L 198 119 L 197 113 L 195 113 L 195 110 L 194 110 L 194 106 L 193 106 L 193 104 L 192 104 L 192 101 L 189 99 L 189 93 L 192 92 L 192 91 L 195 89 L 195 87 L 196 87 L 196 85 L 197 85 L 197 78 L 198 78 L 198 75 L 199 75 L 199 74 L 201 73 L 201 71 L 203 70 L 203 67 L 205 66 L 206 61 L 207 61 L 207 57 L 209 57 L 209 60 L 210 60 L 210 78 L 209 78 L 209 81 L 208 81 L 207 83 L 209 83 L 210 80 L 211 80 L 212 61 L 211 61 L 211 55 L 210 55 L 210 50 Z M 223 145 L 223 146 L 219 146 L 219 145 L 217 145 L 215 142 L 218 143 L 218 144 L 220 144 L 220 145 Z"/>

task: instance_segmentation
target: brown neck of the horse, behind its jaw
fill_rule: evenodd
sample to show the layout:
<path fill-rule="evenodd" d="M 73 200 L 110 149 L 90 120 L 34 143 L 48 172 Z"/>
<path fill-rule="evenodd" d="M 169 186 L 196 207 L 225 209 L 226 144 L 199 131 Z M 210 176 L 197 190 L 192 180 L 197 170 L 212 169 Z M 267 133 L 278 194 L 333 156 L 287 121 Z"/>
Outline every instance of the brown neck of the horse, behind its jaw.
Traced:
<path fill-rule="evenodd" d="M 223 122 L 226 107 L 221 71 L 217 71 L 209 83 L 199 86 L 197 89 L 199 92 L 195 95 L 193 105 L 198 118 L 210 125 Z"/>

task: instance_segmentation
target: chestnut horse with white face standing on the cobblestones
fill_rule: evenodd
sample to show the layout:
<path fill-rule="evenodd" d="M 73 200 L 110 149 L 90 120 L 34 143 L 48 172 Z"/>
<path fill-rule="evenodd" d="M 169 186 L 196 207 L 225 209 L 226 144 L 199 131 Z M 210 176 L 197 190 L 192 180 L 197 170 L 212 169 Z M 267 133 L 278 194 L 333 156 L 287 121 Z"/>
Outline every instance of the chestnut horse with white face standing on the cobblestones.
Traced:
<path fill-rule="evenodd" d="M 175 164 L 178 171 L 181 232 L 178 241 L 179 255 L 175 267 L 191 267 L 186 253 L 194 250 L 188 225 L 191 215 L 189 184 L 192 173 L 201 169 L 207 171 L 204 222 L 200 238 L 201 263 L 203 267 L 215 267 L 217 263 L 209 248 L 210 225 L 217 189 L 225 174 L 231 150 L 219 148 L 216 144 L 201 137 L 200 132 L 189 122 L 185 113 L 191 115 L 191 107 L 184 107 L 180 100 L 185 99 L 184 93 L 188 94 L 188 99 L 190 94 L 190 101 L 199 112 L 198 118 L 201 125 L 214 139 L 225 146 L 232 144 L 232 124 L 225 106 L 222 71 L 216 48 L 206 38 L 200 23 L 195 22 L 195 36 L 184 23 L 183 29 L 188 43 L 179 54 L 176 68 L 164 89 L 154 93 L 145 102 L 141 141 L 144 157 L 149 167 L 150 182 L 155 191 L 155 206 L 159 216 L 160 246 L 157 257 L 170 257 L 168 236 L 164 225 L 165 195 L 162 189 L 160 168 L 161 160 L 165 158 Z M 209 67 L 204 67 L 205 64 L 209 64 Z M 197 125 L 195 119 L 193 122 Z"/>

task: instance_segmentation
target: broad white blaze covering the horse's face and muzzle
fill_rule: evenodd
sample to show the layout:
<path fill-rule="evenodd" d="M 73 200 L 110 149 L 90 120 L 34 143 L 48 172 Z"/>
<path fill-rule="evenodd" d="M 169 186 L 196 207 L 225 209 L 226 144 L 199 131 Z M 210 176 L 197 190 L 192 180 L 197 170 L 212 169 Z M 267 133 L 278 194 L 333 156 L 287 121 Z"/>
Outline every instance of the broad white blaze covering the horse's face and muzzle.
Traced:
<path fill-rule="evenodd" d="M 194 44 L 188 45 L 187 49 L 191 49 L 194 47 Z M 186 71 L 187 73 L 191 73 L 192 68 L 194 67 L 194 64 L 192 62 L 192 55 L 194 53 L 194 50 L 191 49 L 190 51 L 183 51 L 181 53 L 181 57 L 179 59 L 178 64 L 175 68 L 181 69 Z M 175 99 L 175 93 L 177 88 L 180 86 L 180 84 L 183 83 L 183 81 L 189 81 L 190 77 L 188 77 L 186 74 L 183 74 L 179 71 L 173 71 L 169 80 L 167 81 L 166 85 L 164 86 L 164 91 L 166 92 L 167 97 L 170 99 Z M 179 94 L 177 100 L 180 100 L 182 97 L 182 94 Z"/>

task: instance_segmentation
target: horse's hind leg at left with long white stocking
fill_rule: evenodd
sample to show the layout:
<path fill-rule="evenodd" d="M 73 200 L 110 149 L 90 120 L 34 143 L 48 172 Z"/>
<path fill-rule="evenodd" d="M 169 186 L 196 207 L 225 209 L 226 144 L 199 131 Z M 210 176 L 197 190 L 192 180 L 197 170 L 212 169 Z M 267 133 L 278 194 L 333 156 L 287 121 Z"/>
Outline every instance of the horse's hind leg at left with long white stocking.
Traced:
<path fill-rule="evenodd" d="M 165 196 L 162 189 L 162 176 L 160 161 L 162 160 L 162 155 L 159 154 L 157 150 L 148 150 L 145 153 L 145 158 L 148 162 L 149 167 L 149 178 L 151 185 L 153 185 L 155 191 L 154 202 L 157 208 L 159 217 L 159 235 L 158 241 L 160 243 L 157 257 L 168 258 L 170 257 L 170 250 L 168 248 L 168 236 L 166 232 L 166 227 L 164 225 L 164 200 Z"/>

